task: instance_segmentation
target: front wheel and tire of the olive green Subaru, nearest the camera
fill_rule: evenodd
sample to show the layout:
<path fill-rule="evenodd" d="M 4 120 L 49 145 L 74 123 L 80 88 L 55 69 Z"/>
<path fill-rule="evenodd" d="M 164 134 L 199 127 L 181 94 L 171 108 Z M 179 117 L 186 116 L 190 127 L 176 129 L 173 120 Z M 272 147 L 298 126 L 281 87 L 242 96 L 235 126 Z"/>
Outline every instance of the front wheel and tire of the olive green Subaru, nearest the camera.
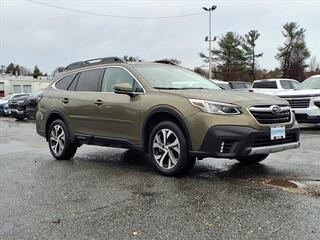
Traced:
<path fill-rule="evenodd" d="M 188 156 L 188 145 L 182 130 L 173 122 L 157 124 L 151 131 L 148 146 L 149 159 L 163 175 L 180 176 L 195 164 L 196 159 Z"/>

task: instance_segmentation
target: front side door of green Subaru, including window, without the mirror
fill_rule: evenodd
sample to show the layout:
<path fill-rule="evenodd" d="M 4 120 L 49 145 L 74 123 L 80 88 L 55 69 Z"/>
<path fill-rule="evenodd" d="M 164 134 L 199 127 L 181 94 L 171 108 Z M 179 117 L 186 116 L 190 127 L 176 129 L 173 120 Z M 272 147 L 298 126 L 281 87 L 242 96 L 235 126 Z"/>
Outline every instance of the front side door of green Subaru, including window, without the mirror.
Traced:
<path fill-rule="evenodd" d="M 138 95 L 130 97 L 114 93 L 113 87 L 118 83 L 129 83 L 133 87 L 132 91 Z M 139 143 L 140 103 L 144 95 L 142 87 L 133 75 L 122 67 L 107 67 L 101 92 L 96 97 L 101 101 L 98 135 Z"/>

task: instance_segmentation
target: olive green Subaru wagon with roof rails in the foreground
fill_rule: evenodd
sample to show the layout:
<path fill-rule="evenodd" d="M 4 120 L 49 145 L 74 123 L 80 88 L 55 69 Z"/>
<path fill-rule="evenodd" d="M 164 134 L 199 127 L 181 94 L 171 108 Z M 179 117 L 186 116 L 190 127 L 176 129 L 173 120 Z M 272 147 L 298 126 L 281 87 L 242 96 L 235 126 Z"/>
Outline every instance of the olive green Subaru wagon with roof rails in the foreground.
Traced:
<path fill-rule="evenodd" d="M 252 164 L 299 147 L 285 100 L 221 90 L 182 67 L 119 58 L 70 64 L 44 90 L 36 119 L 57 160 L 82 144 L 137 149 L 171 176 L 196 159 Z"/>

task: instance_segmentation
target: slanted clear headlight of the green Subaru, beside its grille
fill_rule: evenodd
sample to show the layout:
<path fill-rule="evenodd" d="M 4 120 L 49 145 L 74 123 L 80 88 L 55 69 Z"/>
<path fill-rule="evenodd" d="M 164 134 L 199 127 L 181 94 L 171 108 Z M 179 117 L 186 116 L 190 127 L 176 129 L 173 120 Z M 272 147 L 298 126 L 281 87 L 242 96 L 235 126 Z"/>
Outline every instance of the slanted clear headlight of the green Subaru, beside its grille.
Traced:
<path fill-rule="evenodd" d="M 206 112 L 206 113 L 220 114 L 220 115 L 241 114 L 239 110 L 239 106 L 229 104 L 229 103 L 212 102 L 212 101 L 199 100 L 199 99 L 189 99 L 189 102 L 193 106 L 200 108 L 203 112 Z"/>

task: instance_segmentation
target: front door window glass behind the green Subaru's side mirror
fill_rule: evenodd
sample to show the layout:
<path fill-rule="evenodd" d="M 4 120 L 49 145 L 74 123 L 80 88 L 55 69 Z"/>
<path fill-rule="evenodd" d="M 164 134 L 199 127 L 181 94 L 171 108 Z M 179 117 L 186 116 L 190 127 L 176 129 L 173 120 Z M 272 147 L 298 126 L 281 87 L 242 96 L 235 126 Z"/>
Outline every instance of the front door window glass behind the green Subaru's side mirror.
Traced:
<path fill-rule="evenodd" d="M 113 87 L 119 83 L 129 83 L 132 86 L 133 92 L 142 92 L 141 87 L 136 80 L 126 70 L 118 67 L 107 68 L 103 81 L 102 81 L 102 92 L 113 92 Z"/>

